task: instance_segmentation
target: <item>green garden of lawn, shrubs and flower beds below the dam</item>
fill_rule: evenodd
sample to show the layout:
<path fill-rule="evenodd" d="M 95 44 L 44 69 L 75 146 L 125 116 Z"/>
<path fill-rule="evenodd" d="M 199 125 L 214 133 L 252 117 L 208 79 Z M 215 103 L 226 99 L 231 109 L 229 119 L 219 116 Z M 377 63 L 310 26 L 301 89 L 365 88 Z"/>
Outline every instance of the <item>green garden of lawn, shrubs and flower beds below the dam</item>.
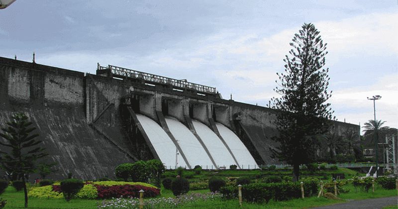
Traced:
<path fill-rule="evenodd" d="M 293 182 L 292 170 L 288 168 L 236 170 L 231 166 L 229 170 L 202 170 L 196 166 L 193 170 L 165 171 L 160 161 L 149 160 L 117 166 L 114 180 L 41 180 L 36 185 L 28 184 L 27 190 L 29 208 L 138 209 L 140 194 L 145 209 L 220 209 L 239 208 L 240 204 L 249 209 L 310 208 L 397 196 L 396 178 L 379 177 L 372 181 L 373 178 L 364 178 L 356 171 L 326 168 L 322 164 L 302 167 L 301 173 L 300 181 Z M 336 174 L 344 174 L 345 178 L 334 182 Z M 1 180 L 0 187 L 5 208 L 23 207 L 21 182 Z"/>

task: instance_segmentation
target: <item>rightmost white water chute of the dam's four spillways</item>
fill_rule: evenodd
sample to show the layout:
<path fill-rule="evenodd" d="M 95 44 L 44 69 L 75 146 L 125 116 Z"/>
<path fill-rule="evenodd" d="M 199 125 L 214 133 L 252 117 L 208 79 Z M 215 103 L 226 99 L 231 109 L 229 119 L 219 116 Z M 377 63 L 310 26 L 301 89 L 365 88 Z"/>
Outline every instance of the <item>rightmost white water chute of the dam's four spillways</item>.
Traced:
<path fill-rule="evenodd" d="M 221 137 L 231 149 L 233 155 L 236 158 L 236 161 L 238 161 L 241 168 L 242 166 L 242 169 L 258 168 L 258 165 L 253 156 L 250 154 L 249 150 L 247 150 L 246 146 L 239 139 L 239 137 L 223 124 L 217 122 L 215 123 L 215 125 L 217 126 L 218 132 L 220 133 Z"/>

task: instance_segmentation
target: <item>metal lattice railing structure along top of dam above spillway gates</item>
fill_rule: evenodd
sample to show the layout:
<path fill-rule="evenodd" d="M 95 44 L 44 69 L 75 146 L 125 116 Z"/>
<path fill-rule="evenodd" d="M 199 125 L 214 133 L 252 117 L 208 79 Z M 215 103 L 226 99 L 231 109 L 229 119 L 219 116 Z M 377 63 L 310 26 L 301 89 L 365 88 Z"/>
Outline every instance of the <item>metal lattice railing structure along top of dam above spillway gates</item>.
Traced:
<path fill-rule="evenodd" d="M 113 65 L 108 65 L 107 67 L 103 67 L 98 65 L 98 70 L 109 70 L 112 76 L 116 78 L 134 78 L 134 79 L 142 79 L 144 81 L 148 81 L 155 84 L 166 84 L 171 85 L 177 89 L 185 90 L 195 90 L 199 93 L 205 94 L 216 94 L 216 90 L 214 87 L 203 86 L 199 84 L 194 84 L 191 82 L 187 82 L 186 80 L 177 80 L 164 76 L 158 76 L 155 74 L 144 73 L 136 70 L 131 70 L 127 68 L 117 67 Z"/>

